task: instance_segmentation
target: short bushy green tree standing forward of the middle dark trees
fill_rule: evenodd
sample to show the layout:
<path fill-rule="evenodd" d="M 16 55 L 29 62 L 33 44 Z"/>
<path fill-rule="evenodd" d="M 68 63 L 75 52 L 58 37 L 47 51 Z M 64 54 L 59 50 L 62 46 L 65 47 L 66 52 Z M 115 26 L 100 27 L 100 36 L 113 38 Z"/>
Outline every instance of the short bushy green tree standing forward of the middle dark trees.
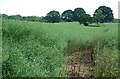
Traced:
<path fill-rule="evenodd" d="M 92 22 L 93 22 L 93 18 L 89 14 L 84 13 L 79 17 L 79 23 L 84 24 L 85 26 L 88 26 L 89 23 Z"/>

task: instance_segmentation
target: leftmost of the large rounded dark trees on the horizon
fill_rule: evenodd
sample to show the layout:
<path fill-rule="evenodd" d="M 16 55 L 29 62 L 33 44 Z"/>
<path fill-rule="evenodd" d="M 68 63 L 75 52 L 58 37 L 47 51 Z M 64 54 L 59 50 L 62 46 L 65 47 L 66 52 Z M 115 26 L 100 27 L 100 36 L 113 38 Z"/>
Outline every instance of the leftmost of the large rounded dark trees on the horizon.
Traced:
<path fill-rule="evenodd" d="M 50 23 L 55 23 L 55 22 L 60 22 L 60 13 L 58 11 L 50 11 L 46 16 L 45 19 L 47 22 Z"/>

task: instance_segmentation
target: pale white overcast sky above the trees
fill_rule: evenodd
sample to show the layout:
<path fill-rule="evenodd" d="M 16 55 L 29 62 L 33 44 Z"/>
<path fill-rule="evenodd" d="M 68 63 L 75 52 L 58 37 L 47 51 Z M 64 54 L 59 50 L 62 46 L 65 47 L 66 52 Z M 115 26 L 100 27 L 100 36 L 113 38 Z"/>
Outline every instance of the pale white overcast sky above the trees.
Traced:
<path fill-rule="evenodd" d="M 108 6 L 118 18 L 118 2 L 120 0 L 0 0 L 0 13 L 22 16 L 45 16 L 49 11 L 56 10 L 62 14 L 67 9 L 84 8 L 86 13 L 93 15 L 99 6 Z"/>

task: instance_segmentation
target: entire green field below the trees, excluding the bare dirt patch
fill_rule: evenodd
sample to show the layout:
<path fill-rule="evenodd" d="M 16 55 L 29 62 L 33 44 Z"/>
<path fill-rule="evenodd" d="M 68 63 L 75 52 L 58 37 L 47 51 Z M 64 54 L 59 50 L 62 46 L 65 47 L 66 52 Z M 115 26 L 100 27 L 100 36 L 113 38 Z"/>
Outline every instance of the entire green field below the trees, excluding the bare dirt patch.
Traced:
<path fill-rule="evenodd" d="M 65 77 L 67 75 L 61 70 L 68 58 L 65 49 L 72 48 L 70 53 L 74 53 L 80 47 L 89 46 L 93 47 L 97 62 L 94 76 L 117 75 L 118 23 L 92 27 L 78 22 L 3 20 L 2 32 L 4 77 L 59 77 L 60 73 Z"/>

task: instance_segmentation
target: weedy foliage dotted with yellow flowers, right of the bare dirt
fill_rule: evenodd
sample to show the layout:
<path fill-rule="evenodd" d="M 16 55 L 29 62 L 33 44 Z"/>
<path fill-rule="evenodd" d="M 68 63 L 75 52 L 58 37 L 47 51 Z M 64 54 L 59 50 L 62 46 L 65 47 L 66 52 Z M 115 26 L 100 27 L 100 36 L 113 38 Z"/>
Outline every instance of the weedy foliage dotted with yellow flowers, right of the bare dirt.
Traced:
<path fill-rule="evenodd" d="M 118 76 L 118 49 L 116 39 L 98 41 L 94 49 L 95 77 L 117 77 Z M 100 44 L 101 43 L 101 44 Z"/>

